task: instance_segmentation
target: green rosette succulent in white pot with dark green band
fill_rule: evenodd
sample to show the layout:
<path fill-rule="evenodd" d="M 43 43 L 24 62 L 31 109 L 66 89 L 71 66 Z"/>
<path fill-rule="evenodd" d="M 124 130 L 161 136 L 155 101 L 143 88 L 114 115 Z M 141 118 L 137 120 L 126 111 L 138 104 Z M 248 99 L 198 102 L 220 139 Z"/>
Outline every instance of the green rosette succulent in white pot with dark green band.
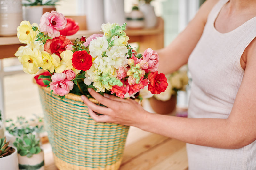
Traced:
<path fill-rule="evenodd" d="M 13 143 L 18 150 L 19 169 L 44 170 L 44 152 L 40 148 L 40 139 L 33 134 L 17 137 Z"/>

